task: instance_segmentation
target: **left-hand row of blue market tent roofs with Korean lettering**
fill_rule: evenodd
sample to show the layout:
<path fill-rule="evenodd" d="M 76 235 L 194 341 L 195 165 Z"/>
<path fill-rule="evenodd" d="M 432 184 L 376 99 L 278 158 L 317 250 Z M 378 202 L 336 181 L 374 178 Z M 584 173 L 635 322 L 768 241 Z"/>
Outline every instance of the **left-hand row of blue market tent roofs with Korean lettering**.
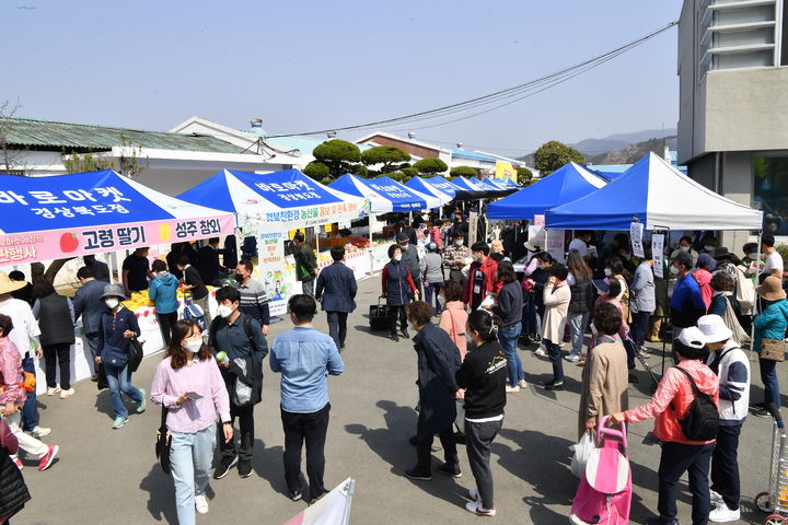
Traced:
<path fill-rule="evenodd" d="M 49 177 L 0 175 L 0 266 L 231 235 L 286 232 L 368 213 L 439 208 L 454 199 L 509 195 L 493 180 L 414 177 L 331 185 L 298 170 L 222 170 L 171 197 L 105 170 Z"/>

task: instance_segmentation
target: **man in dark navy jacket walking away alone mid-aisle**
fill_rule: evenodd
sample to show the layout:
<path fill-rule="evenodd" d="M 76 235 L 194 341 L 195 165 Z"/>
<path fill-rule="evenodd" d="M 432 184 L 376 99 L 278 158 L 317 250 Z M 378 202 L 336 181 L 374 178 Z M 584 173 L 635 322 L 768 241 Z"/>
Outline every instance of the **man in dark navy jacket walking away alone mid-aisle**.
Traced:
<path fill-rule="evenodd" d="M 326 313 L 328 335 L 341 351 L 347 336 L 347 316 L 356 310 L 358 284 L 352 270 L 345 266 L 345 248 L 335 246 L 331 254 L 334 262 L 317 276 L 315 299 L 321 301 L 321 310 Z"/>

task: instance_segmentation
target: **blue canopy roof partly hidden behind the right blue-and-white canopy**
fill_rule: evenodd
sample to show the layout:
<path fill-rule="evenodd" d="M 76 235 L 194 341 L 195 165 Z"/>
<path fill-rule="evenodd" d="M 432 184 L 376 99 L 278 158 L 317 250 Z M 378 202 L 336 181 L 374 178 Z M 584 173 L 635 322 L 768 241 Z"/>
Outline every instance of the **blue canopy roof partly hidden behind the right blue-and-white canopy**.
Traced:
<path fill-rule="evenodd" d="M 487 206 L 491 220 L 529 220 L 542 215 L 548 208 L 571 202 L 606 184 L 584 166 L 570 162 L 543 179 Z"/>

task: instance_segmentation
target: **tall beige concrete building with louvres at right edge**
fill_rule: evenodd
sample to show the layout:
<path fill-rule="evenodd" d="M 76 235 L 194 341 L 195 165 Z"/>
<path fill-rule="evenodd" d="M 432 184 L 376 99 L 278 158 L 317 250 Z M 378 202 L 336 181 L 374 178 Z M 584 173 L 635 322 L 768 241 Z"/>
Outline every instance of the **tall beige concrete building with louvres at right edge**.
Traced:
<path fill-rule="evenodd" d="M 679 77 L 679 164 L 788 241 L 788 0 L 685 0 Z"/>

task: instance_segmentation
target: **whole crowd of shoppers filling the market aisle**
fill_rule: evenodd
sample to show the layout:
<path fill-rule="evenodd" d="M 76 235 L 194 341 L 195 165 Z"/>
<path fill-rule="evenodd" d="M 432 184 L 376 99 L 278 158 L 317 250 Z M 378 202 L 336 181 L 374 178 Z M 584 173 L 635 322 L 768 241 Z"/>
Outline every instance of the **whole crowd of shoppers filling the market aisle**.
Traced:
<path fill-rule="evenodd" d="M 543 238 L 512 243 L 509 233 L 501 232 L 501 238 L 489 245 L 470 243 L 462 214 L 447 228 L 416 230 L 404 224 L 395 233 L 390 261 L 381 271 L 381 298 L 391 339 L 413 338 L 419 393 L 412 439 L 415 466 L 405 475 L 419 481 L 432 478 L 432 443 L 438 435 L 443 463 L 437 470 L 460 477 L 457 444 L 464 444 L 476 482 L 465 508 L 494 516 L 491 444 L 503 424 L 507 395 L 528 386 L 519 348 L 537 345 L 535 354 L 552 364 L 551 380 L 541 385 L 547 390 L 566 388 L 565 362 L 583 366 L 578 438 L 598 429 L 604 416 L 613 423 L 656 419 L 653 433 L 662 443 L 659 517 L 649 524 L 677 523 L 677 480 L 686 471 L 694 524 L 738 520 L 741 428 L 748 411 L 766 416 L 780 401 L 776 361 L 765 350 L 783 341 L 788 329 L 783 261 L 774 238 L 764 235 L 762 246 L 745 245 L 745 256 L 739 259 L 711 235 L 682 237 L 660 258 L 662 271 L 656 271 L 650 248 L 634 257 L 624 234 L 598 245 L 593 232 L 577 232 L 565 265 L 541 249 Z M 333 264 L 317 271 L 304 236 L 298 233 L 293 241 L 303 293 L 288 301 L 292 329 L 270 345 L 268 298 L 252 277 L 254 267 L 247 258 L 232 260 L 225 254 L 225 265 L 235 262 L 233 283 L 216 291 L 217 315 L 210 316 L 206 284 L 229 275 L 219 265 L 218 238 L 210 240 L 195 259 L 187 253 L 194 252 L 190 247 L 179 245 L 172 257 L 152 266 L 147 248 L 139 248 L 123 265 L 123 284 L 105 281 L 108 271 L 85 257 L 73 300 L 59 295 L 46 281 L 28 289 L 24 276 L 0 272 L 0 439 L 10 459 L 23 468 L 15 454 L 19 446 L 39 458 L 39 470 L 54 464 L 59 447 L 40 441 L 51 430 L 38 424 L 33 359 L 45 360 L 46 395 L 73 396 L 69 349 L 81 319 L 94 363 L 92 378 L 109 389 L 112 428 L 121 429 L 129 413 L 141 413 L 149 400 L 162 407 L 172 436 L 169 458 L 178 523 L 194 524 L 196 514 L 208 512 L 206 489 L 217 447 L 220 460 L 213 479 L 224 478 L 234 467 L 241 478 L 252 475 L 254 407 L 262 400 L 266 357 L 270 370 L 281 374 L 288 495 L 293 501 L 320 500 L 327 493 L 323 479 L 331 411 L 327 377 L 344 371 L 340 352 L 348 343 L 347 318 L 357 307 L 358 287 L 354 272 L 343 264 L 344 248 L 332 248 Z M 520 244 L 518 258 L 512 248 Z M 763 267 L 753 264 L 761 250 Z M 668 281 L 674 282 L 671 294 Z M 131 382 L 131 346 L 140 329 L 134 313 L 123 305 L 130 292 L 140 290 L 149 290 L 155 303 L 166 347 L 150 395 Z M 178 290 L 190 293 L 200 318 L 178 319 Z M 326 312 L 327 335 L 312 325 L 318 304 Z M 648 404 L 630 409 L 627 390 L 635 381 L 630 371 L 638 355 L 648 355 L 647 340 L 660 341 L 669 334 L 662 323 L 669 311 L 675 366 L 664 371 Z M 765 385 L 763 402 L 752 407 L 750 365 L 741 349 L 751 327 Z M 712 439 L 687 435 L 683 427 L 698 393 L 708 396 L 719 412 L 719 430 Z M 308 485 L 301 474 L 304 444 Z"/>

